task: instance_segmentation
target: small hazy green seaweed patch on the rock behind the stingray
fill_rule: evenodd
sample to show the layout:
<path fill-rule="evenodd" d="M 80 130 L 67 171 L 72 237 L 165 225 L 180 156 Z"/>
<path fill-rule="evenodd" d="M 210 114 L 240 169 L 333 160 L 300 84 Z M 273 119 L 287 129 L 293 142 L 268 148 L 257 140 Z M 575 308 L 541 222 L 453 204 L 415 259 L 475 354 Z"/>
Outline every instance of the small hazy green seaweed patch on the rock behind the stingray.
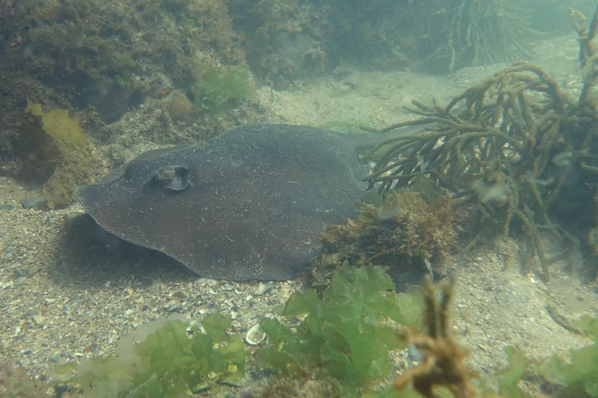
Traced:
<path fill-rule="evenodd" d="M 195 87 L 195 105 L 208 109 L 213 118 L 222 120 L 226 117 L 226 106 L 230 101 L 249 97 L 247 86 L 249 78 L 246 66 L 231 66 L 228 71 L 212 68 L 206 73 L 203 82 Z"/>

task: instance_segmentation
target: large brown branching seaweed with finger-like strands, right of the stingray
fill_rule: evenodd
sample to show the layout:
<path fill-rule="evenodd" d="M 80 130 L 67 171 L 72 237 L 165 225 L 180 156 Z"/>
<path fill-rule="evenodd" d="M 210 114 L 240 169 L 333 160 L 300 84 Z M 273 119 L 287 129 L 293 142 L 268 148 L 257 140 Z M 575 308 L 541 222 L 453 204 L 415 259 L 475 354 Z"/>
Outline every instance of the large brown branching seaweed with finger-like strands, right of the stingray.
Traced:
<path fill-rule="evenodd" d="M 508 233 L 512 221 L 518 220 L 528 236 L 527 262 L 538 254 L 548 280 L 548 265 L 568 251 L 547 258 L 538 226 L 550 230 L 563 247 L 566 240 L 575 240 L 551 221 L 551 205 L 573 169 L 598 171 L 596 122 L 582 116 L 591 113 L 591 103 L 584 101 L 585 105 L 575 105 L 540 67 L 516 62 L 455 97 L 444 109 L 436 102 L 405 107 L 424 118 L 382 131 L 407 125 L 425 125 L 426 131 L 382 141 L 373 150 L 382 145 L 390 150 L 365 180 L 370 187 L 382 183 L 382 195 L 427 174 L 453 192 L 452 205 L 475 202 L 481 217 L 499 226 L 500 232 Z M 574 246 L 578 247 L 569 249 Z"/>

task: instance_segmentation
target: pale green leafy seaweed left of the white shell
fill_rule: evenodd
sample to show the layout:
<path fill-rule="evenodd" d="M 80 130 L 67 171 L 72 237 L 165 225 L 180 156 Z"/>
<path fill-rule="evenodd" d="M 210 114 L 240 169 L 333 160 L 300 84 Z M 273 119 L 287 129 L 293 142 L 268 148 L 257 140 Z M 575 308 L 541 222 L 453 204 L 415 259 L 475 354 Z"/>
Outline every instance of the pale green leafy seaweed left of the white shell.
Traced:
<path fill-rule="evenodd" d="M 55 370 L 65 374 L 77 369 L 77 376 L 66 382 L 77 382 L 87 397 L 190 397 L 208 372 L 221 377 L 243 372 L 243 341 L 239 335 L 224 334 L 230 323 L 230 317 L 209 314 L 202 320 L 206 334 L 197 325 L 191 326 L 189 334 L 187 322 L 170 320 L 134 348 L 130 338 L 129 344 L 119 342 L 114 355 L 78 365 L 71 362 Z"/>

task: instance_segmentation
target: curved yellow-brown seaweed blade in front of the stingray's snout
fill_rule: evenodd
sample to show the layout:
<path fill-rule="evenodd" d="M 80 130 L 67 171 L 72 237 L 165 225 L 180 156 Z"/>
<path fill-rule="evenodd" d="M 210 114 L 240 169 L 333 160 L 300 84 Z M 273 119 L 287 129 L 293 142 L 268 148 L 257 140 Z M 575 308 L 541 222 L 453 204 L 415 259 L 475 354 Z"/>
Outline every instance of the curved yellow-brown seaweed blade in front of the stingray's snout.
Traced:
<path fill-rule="evenodd" d="M 41 121 L 41 128 L 53 138 L 59 149 L 54 174 L 44 184 L 48 207 L 66 205 L 74 199 L 73 192 L 93 171 L 91 150 L 83 128 L 69 116 L 68 110 L 54 109 L 45 113 L 40 104 L 28 100 L 25 113 L 32 113 Z"/>

